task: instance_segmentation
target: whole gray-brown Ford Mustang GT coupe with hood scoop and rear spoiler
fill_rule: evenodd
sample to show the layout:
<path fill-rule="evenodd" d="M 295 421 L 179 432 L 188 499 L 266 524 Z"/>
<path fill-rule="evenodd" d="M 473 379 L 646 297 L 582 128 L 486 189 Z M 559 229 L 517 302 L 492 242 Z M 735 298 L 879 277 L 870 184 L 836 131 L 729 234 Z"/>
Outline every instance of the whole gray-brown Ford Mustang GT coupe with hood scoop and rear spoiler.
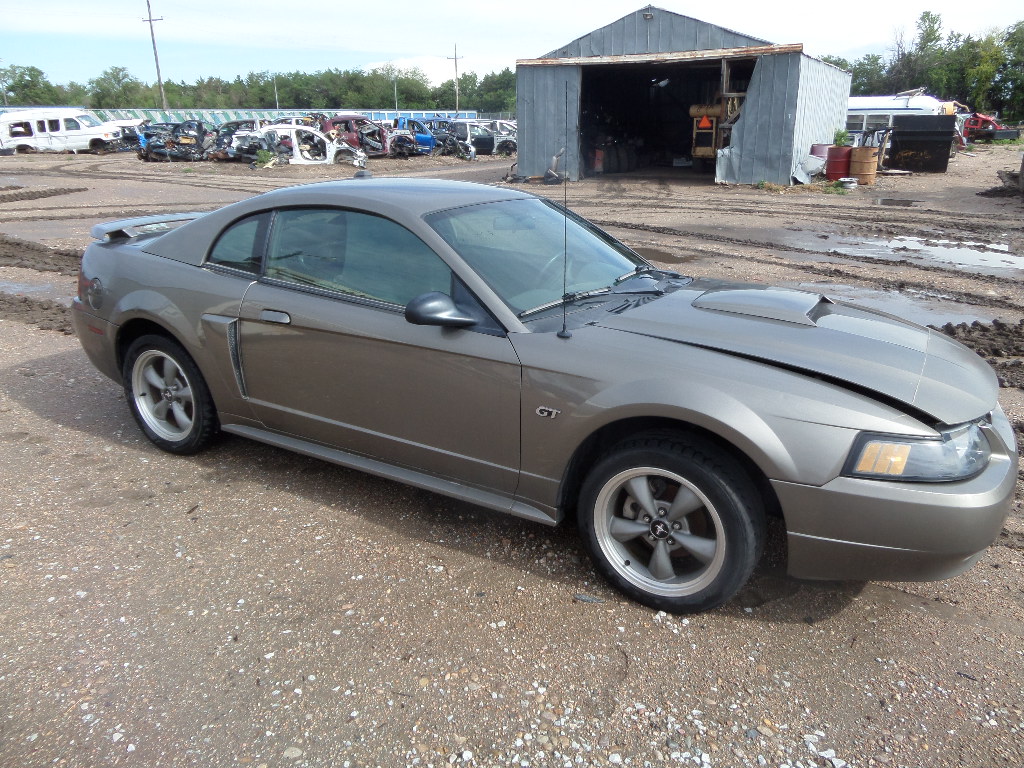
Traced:
<path fill-rule="evenodd" d="M 925 328 L 658 269 L 524 191 L 355 178 L 92 228 L 75 328 L 157 446 L 218 431 L 555 524 L 653 608 L 945 579 L 1017 475 L 997 384 Z"/>

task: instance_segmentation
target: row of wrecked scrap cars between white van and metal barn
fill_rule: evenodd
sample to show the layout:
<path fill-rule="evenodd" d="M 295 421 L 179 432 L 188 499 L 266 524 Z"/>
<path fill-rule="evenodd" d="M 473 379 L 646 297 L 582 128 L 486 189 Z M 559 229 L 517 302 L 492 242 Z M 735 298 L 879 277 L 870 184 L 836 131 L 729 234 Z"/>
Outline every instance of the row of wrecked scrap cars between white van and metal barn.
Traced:
<path fill-rule="evenodd" d="M 243 161 L 260 167 L 351 163 L 367 158 L 452 155 L 512 155 L 518 148 L 512 121 L 399 117 L 390 123 L 357 113 L 286 115 L 271 122 L 234 120 L 219 126 L 202 121 L 142 124 L 138 157 L 143 161 Z"/>

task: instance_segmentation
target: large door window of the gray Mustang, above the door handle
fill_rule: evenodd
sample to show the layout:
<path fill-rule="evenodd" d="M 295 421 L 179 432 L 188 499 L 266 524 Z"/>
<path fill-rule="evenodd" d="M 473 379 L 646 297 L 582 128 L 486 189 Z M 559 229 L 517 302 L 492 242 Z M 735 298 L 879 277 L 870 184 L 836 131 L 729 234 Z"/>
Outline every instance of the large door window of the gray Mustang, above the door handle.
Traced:
<path fill-rule="evenodd" d="M 403 226 L 333 208 L 278 212 L 266 276 L 399 305 L 452 290 L 447 264 Z"/>

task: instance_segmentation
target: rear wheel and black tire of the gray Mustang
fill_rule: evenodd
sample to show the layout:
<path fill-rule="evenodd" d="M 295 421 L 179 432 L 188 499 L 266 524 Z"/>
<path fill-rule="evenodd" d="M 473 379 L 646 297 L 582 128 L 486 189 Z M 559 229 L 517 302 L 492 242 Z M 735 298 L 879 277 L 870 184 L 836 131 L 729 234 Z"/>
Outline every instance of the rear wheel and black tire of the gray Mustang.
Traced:
<path fill-rule="evenodd" d="M 142 433 L 171 454 L 195 454 L 220 425 L 206 381 L 188 353 L 166 336 L 140 336 L 121 369 L 125 399 Z"/>

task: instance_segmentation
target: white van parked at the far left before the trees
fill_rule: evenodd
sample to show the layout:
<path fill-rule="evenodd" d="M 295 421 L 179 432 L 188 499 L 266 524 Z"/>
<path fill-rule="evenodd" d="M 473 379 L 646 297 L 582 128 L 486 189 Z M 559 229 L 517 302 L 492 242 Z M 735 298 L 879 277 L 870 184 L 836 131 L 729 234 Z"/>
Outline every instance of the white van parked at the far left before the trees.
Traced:
<path fill-rule="evenodd" d="M 0 148 L 14 152 L 102 152 L 121 142 L 121 129 L 85 110 L 34 106 L 0 114 Z"/>

